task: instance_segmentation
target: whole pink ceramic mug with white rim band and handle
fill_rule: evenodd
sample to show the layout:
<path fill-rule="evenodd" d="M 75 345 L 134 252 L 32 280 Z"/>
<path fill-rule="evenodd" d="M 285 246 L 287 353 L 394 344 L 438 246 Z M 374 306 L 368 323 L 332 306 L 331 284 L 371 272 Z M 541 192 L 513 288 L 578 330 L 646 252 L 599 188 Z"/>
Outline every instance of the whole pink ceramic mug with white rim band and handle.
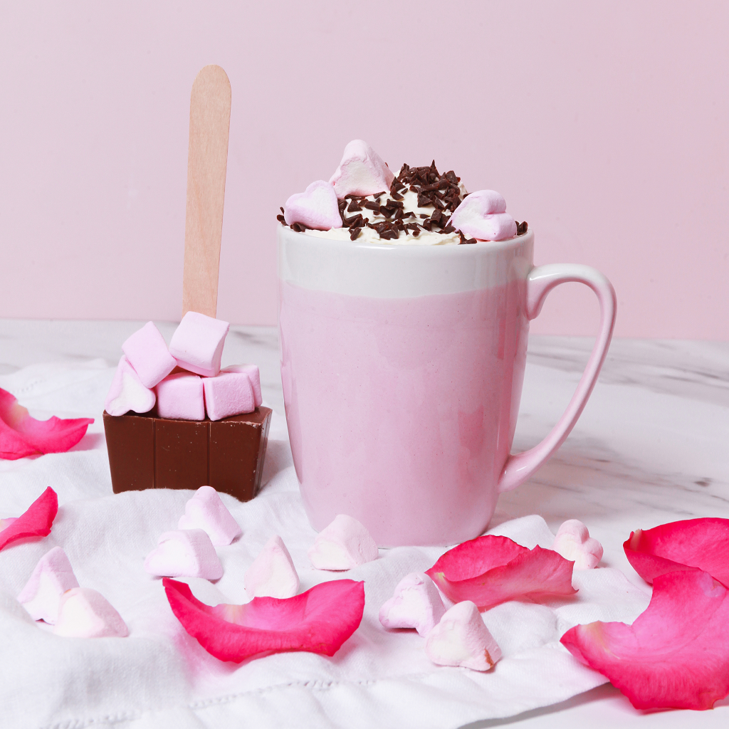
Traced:
<path fill-rule="evenodd" d="M 278 230 L 281 378 L 314 529 L 359 519 L 378 545 L 481 534 L 496 498 L 533 474 L 585 407 L 607 354 L 615 291 L 584 265 L 534 267 L 534 233 L 397 246 Z M 542 443 L 510 455 L 529 320 L 581 281 L 601 308 L 590 361 Z"/>

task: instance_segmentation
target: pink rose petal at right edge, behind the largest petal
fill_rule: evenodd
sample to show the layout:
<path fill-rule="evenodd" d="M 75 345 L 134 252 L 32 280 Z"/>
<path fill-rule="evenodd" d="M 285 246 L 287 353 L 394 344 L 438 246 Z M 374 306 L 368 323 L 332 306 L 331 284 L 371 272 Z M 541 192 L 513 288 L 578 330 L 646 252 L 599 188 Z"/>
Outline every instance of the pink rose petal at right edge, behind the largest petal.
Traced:
<path fill-rule="evenodd" d="M 636 529 L 623 550 L 646 582 L 666 572 L 703 569 L 729 587 L 729 519 L 686 519 Z"/>

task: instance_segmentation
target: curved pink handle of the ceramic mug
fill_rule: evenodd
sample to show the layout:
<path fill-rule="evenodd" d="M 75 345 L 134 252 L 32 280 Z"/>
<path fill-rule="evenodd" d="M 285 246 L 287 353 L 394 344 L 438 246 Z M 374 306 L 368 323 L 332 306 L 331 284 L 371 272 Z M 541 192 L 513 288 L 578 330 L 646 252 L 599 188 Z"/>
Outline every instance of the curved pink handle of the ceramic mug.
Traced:
<path fill-rule="evenodd" d="M 582 409 L 585 408 L 607 355 L 612 330 L 615 327 L 617 302 L 612 284 L 595 268 L 578 263 L 549 263 L 532 268 L 526 277 L 527 318 L 536 318 L 542 311 L 542 304 L 545 302 L 547 294 L 558 284 L 566 284 L 568 281 L 578 281 L 580 284 L 590 286 L 598 298 L 600 328 L 595 346 L 567 409 L 550 434 L 542 440 L 542 443 L 530 448 L 529 451 L 512 454 L 506 459 L 497 484 L 499 493 L 511 491 L 512 488 L 516 488 L 520 483 L 526 481 L 564 443 L 577 422 L 577 418 L 580 417 Z"/>

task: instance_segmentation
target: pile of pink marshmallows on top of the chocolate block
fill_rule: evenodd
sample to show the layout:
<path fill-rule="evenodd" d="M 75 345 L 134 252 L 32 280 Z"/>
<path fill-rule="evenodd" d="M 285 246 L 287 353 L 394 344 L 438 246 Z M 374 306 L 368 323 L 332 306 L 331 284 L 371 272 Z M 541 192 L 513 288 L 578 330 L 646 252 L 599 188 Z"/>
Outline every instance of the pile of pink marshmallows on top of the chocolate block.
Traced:
<path fill-rule="evenodd" d="M 104 407 L 111 416 L 133 410 L 179 420 L 221 420 L 252 413 L 262 402 L 254 364 L 220 369 L 230 324 L 188 311 L 169 348 L 152 321 L 122 344 L 114 381 Z M 183 371 L 184 370 L 184 371 Z"/>

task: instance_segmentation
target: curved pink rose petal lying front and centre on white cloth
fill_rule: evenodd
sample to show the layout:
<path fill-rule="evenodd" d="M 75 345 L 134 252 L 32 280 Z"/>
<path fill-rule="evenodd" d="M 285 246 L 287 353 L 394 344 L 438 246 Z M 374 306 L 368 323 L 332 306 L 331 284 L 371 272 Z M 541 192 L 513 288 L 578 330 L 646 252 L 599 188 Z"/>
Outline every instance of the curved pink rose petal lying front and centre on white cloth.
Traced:
<path fill-rule="evenodd" d="M 200 602 L 184 582 L 165 577 L 167 599 L 184 629 L 220 660 L 305 650 L 334 655 L 359 627 L 364 582 L 332 580 L 287 599 L 257 597 L 245 605 Z"/>

